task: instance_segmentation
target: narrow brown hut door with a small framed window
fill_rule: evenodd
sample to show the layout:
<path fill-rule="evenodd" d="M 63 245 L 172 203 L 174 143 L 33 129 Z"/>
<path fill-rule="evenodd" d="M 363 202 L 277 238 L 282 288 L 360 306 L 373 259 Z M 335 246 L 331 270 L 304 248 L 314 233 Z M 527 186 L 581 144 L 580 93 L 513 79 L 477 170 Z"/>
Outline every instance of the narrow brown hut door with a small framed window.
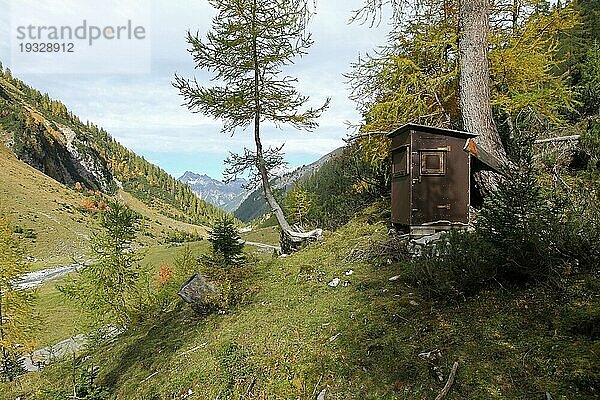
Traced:
<path fill-rule="evenodd" d="M 413 152 L 413 225 L 450 220 L 448 145 L 445 137 L 421 137 Z"/>

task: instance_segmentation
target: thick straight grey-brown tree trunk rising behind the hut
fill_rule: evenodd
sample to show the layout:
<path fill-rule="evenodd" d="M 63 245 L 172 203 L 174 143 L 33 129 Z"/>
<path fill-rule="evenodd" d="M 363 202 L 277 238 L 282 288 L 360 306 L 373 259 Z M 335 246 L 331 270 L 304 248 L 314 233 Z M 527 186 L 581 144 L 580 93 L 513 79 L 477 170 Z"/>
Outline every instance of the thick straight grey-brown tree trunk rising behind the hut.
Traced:
<path fill-rule="evenodd" d="M 459 14 L 459 97 L 463 129 L 478 134 L 475 138 L 477 145 L 504 162 L 506 152 L 494 123 L 491 102 L 489 0 L 461 0 Z M 482 194 L 494 190 L 498 178 L 490 171 L 481 171 L 475 176 Z"/>

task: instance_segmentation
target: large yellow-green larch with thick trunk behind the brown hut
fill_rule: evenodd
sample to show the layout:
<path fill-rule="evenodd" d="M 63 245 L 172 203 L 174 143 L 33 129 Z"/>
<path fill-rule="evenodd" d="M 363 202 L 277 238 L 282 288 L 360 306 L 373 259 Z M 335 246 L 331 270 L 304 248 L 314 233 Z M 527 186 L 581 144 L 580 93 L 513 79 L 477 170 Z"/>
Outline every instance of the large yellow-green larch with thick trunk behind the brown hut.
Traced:
<path fill-rule="evenodd" d="M 497 0 L 493 6 L 487 0 L 366 0 L 355 18 L 381 15 L 385 5 L 394 10 L 388 43 L 347 75 L 363 132 L 407 122 L 464 129 L 477 133 L 478 145 L 502 162 L 503 143 L 516 130 L 558 126 L 561 113 L 573 109 L 567 78 L 556 73 L 566 60 L 556 42 L 577 23 L 571 6 L 553 7 L 547 0 Z M 387 142 L 368 137 L 361 146 L 387 165 Z M 493 173 L 475 178 L 482 193 L 496 187 Z"/>

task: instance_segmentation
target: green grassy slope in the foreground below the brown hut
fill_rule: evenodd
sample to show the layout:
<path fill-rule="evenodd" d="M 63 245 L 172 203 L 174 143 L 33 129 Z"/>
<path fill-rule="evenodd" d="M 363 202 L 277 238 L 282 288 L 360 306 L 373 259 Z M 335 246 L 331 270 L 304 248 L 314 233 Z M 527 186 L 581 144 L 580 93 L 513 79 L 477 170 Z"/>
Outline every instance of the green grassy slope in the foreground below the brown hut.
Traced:
<path fill-rule="evenodd" d="M 418 353 L 441 349 L 444 373 L 460 363 L 448 399 L 532 399 L 546 391 L 596 398 L 600 345 L 574 333 L 580 322 L 571 316 L 598 306 L 589 295 L 598 293 L 597 281 L 573 279 L 560 297 L 536 285 L 431 302 L 388 280 L 401 264 L 346 259 L 385 237 L 385 224 L 353 221 L 291 257 L 259 263 L 249 278 L 257 291 L 251 303 L 207 318 L 181 307 L 88 362 L 101 367 L 100 381 L 118 399 L 179 398 L 190 389 L 194 399 L 247 392 L 314 399 L 323 388 L 327 399 L 433 399 L 442 384 Z M 350 285 L 327 286 L 334 277 Z M 4 390 L 31 399 L 69 379 L 68 366 L 55 365 Z"/>

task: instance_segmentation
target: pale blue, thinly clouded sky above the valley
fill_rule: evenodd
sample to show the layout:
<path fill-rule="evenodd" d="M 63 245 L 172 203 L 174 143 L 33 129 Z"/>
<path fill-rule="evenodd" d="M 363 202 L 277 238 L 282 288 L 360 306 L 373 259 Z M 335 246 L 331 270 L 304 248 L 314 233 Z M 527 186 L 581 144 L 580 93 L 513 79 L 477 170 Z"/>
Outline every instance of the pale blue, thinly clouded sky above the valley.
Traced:
<path fill-rule="evenodd" d="M 175 73 L 211 84 L 208 72 L 194 69 L 185 34 L 190 29 L 204 37 L 211 28 L 214 10 L 206 0 L 114 0 L 114 6 L 110 1 L 0 0 L 0 10 L 9 11 L 0 13 L 0 60 L 14 76 L 62 101 L 83 121 L 104 127 L 121 144 L 171 175 L 179 177 L 190 170 L 220 179 L 229 151 L 252 148 L 251 131 L 238 131 L 233 137 L 221 133 L 220 121 L 191 113 L 171 85 Z M 347 122 L 360 122 L 355 104 L 348 99 L 343 74 L 350 71 L 350 64 L 359 55 L 382 45 L 388 30 L 383 23 L 375 28 L 348 23 L 352 11 L 363 1 L 317 0 L 316 15 L 309 26 L 314 45 L 307 55 L 284 69 L 285 74 L 298 78 L 297 87 L 310 96 L 309 105 L 319 106 L 331 97 L 330 108 L 313 132 L 285 126 L 263 129 L 265 145 L 285 143 L 291 167 L 308 164 L 342 146 L 343 139 L 352 133 Z M 68 10 L 74 15 L 69 16 Z M 75 56 L 81 64 L 76 67 L 69 55 L 44 59 L 40 54 L 28 54 L 37 58 L 25 59 L 18 53 L 16 25 L 33 21 L 60 26 L 65 23 L 61 18 L 71 18 L 72 23 L 84 17 L 101 27 L 117 24 L 115 19 L 130 18 L 143 25 L 146 40 L 121 53 L 107 53 L 100 40 L 93 46 L 80 46 Z M 81 53 L 86 49 L 91 52 Z M 115 62 L 126 59 L 130 61 Z M 125 65 L 130 71 L 112 71 L 111 65 Z"/>

